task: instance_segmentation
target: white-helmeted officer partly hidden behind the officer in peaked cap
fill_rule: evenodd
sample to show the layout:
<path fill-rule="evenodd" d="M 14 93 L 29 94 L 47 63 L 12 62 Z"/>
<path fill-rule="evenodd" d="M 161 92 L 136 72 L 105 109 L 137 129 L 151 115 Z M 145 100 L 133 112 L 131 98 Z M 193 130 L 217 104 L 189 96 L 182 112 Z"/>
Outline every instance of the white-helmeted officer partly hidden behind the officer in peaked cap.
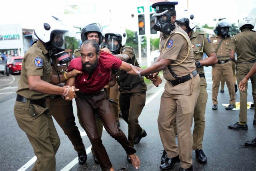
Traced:
<path fill-rule="evenodd" d="M 193 150 L 196 151 L 196 159 L 198 162 L 204 164 L 207 163 L 207 157 L 202 150 L 202 142 L 205 128 L 204 114 L 208 98 L 204 66 L 212 66 L 216 64 L 218 60 L 210 39 L 203 33 L 193 31 L 196 26 L 193 19 L 194 15 L 186 11 L 183 15 L 180 15 L 180 18 L 176 20 L 176 23 L 186 31 L 190 37 L 194 58 L 196 60 L 196 70 L 198 70 L 200 77 L 200 93 L 194 109 Z M 202 57 L 204 53 L 206 53 L 208 58 L 203 60 Z"/>

